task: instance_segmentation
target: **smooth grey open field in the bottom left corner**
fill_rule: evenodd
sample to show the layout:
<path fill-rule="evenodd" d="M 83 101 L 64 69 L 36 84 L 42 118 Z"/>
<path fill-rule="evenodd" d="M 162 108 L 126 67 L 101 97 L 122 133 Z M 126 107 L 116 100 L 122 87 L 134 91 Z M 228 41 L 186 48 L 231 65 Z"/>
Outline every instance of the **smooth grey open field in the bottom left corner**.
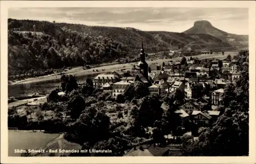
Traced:
<path fill-rule="evenodd" d="M 48 144 L 59 134 L 48 134 L 31 131 L 8 131 L 8 156 L 20 156 L 20 153 L 14 153 L 14 149 L 35 149 Z"/>

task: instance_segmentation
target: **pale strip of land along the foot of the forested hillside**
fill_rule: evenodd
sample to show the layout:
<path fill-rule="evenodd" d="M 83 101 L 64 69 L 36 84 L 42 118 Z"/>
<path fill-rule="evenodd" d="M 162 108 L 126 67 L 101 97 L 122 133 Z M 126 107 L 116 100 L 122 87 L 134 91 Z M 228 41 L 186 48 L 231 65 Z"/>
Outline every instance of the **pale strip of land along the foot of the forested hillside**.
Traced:
<path fill-rule="evenodd" d="M 207 59 L 207 58 L 218 58 L 218 59 L 225 59 L 228 54 L 233 57 L 234 55 L 237 55 L 238 52 L 225 52 L 225 55 L 222 54 L 202 54 L 202 55 L 197 55 L 197 56 L 192 56 L 193 58 L 197 57 L 199 59 Z M 152 63 L 159 63 L 162 64 L 162 62 L 167 62 L 169 60 L 173 61 L 179 61 L 181 60 L 182 57 L 175 57 L 172 59 L 155 59 L 155 60 L 147 60 L 146 62 L 148 65 Z M 190 56 L 186 56 L 186 58 L 190 58 Z M 110 71 L 116 71 L 118 69 L 130 69 L 133 67 L 134 64 L 137 64 L 138 62 L 133 62 L 133 63 L 125 63 L 125 64 L 115 64 L 115 65 L 106 65 L 106 66 L 101 66 L 101 67 L 95 67 L 91 69 L 84 70 L 82 67 L 76 67 L 74 69 L 71 69 L 67 72 L 63 72 L 66 75 L 75 75 L 75 76 L 82 76 L 82 75 L 90 75 L 90 74 L 95 74 L 95 73 L 105 73 L 105 72 L 110 72 Z M 98 69 L 99 72 L 95 72 L 95 70 Z M 104 69 L 104 71 L 102 71 Z M 48 81 L 48 80 L 54 80 L 54 79 L 59 79 L 61 75 L 50 75 L 50 76 L 44 76 L 44 77 L 38 77 L 38 78 L 33 78 L 33 79 L 26 79 L 24 81 L 19 81 L 11 85 L 15 84 L 28 84 L 28 83 L 34 83 L 34 82 L 40 82 L 40 81 Z"/>

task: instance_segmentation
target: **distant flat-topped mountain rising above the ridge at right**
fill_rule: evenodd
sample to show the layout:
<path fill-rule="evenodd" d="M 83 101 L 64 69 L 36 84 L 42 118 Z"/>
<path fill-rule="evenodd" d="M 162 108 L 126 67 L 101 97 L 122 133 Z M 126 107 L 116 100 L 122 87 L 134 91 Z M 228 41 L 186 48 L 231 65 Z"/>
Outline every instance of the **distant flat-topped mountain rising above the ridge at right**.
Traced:
<path fill-rule="evenodd" d="M 248 35 L 230 34 L 219 30 L 207 20 L 195 21 L 194 26 L 184 31 L 185 34 L 208 34 L 217 37 L 232 46 L 248 47 Z"/>

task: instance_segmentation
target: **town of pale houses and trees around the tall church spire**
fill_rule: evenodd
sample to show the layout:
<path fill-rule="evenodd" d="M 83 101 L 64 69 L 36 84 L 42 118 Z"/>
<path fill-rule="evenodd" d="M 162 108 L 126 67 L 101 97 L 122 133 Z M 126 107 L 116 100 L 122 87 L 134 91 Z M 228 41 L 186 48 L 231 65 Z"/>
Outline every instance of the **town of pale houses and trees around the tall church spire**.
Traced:
<path fill-rule="evenodd" d="M 186 154 L 186 148 L 183 145 L 184 137 L 198 140 L 200 128 L 211 128 L 216 125 L 218 118 L 225 113 L 223 108 L 226 107 L 225 105 L 228 103 L 226 99 L 230 96 L 230 93 L 225 92 L 230 91 L 230 88 L 233 89 L 237 82 L 241 83 L 241 79 L 246 79 L 246 76 L 248 76 L 248 50 L 240 51 L 239 55 L 233 58 L 228 55 L 225 60 L 215 58 L 200 60 L 193 57 L 182 57 L 180 61 L 170 59 L 168 62 L 151 65 L 146 63 L 145 56 L 142 42 L 139 54 L 140 61 L 133 68 L 99 74 L 93 79 L 87 78 L 85 85 L 78 85 L 76 78 L 72 75 L 62 75 L 61 88 L 54 89 L 48 96 L 34 95 L 34 97 L 38 96 L 42 99 L 47 98 L 47 102 L 32 98 L 39 101 L 39 103 L 25 101 L 21 104 L 23 107 L 25 105 L 26 115 L 30 115 L 30 121 L 25 123 L 25 127 L 20 126 L 24 123 L 12 122 L 13 112 L 17 112 L 18 106 L 12 107 L 11 112 L 9 112 L 9 129 L 17 130 L 18 128 L 11 127 L 14 126 L 19 127 L 19 129 L 32 129 L 33 131 L 61 132 L 64 133 L 63 138 L 68 142 L 82 145 L 80 143 L 82 138 L 80 137 L 84 134 L 77 134 L 77 131 L 71 127 L 76 123 L 81 124 L 80 119 L 82 119 L 83 114 L 86 114 L 84 112 L 89 110 L 87 112 L 90 113 L 91 108 L 97 106 L 94 110 L 99 110 L 98 112 L 102 112 L 101 114 L 104 115 L 103 118 L 97 118 L 97 121 L 101 120 L 104 124 L 113 124 L 113 127 L 105 128 L 112 127 L 116 129 L 114 131 L 119 131 L 121 134 L 113 137 L 115 139 L 118 137 L 119 140 L 122 140 L 122 143 L 125 140 L 127 144 L 125 147 L 120 145 L 118 152 L 112 150 L 109 154 L 101 153 L 100 155 L 140 156 L 146 153 L 145 155 L 152 156 L 182 156 Z M 65 104 L 67 107 L 63 108 Z M 101 109 L 99 109 L 100 106 Z M 31 108 L 35 108 L 36 111 Z M 49 118 L 49 115 L 47 113 L 42 114 L 43 110 L 53 110 L 51 108 L 54 108 L 55 116 L 52 115 L 52 118 L 55 118 L 55 121 L 45 120 Z M 84 110 L 84 108 L 86 109 Z M 33 113 L 37 119 L 32 119 L 31 114 Z M 97 114 L 95 116 L 97 117 Z M 56 120 L 56 118 L 58 119 Z M 92 120 L 88 121 L 91 122 Z M 98 124 L 97 126 L 103 126 L 100 123 Z M 129 128 L 130 132 L 125 132 L 127 129 L 120 131 L 119 124 L 126 124 L 126 126 L 130 124 L 129 126 L 134 127 Z M 102 128 L 100 127 L 98 130 L 103 130 Z M 76 139 L 72 133 L 76 133 Z M 92 135 L 94 139 L 101 140 L 104 137 L 95 136 L 101 133 L 97 132 Z M 117 132 L 111 133 L 105 132 L 104 134 L 114 135 Z M 127 137 L 127 135 L 130 137 Z M 141 141 L 135 143 L 134 139 L 136 140 L 136 138 L 131 139 L 131 135 L 133 135 L 132 138 L 139 137 Z M 90 135 L 86 138 L 92 139 Z M 95 147 L 92 144 L 95 142 L 91 141 L 89 146 L 78 146 L 76 149 L 104 149 L 99 146 Z M 148 151 L 144 151 L 144 149 L 147 149 L 150 153 L 148 154 Z M 40 155 L 42 154 L 47 153 L 40 153 Z M 63 156 L 63 154 L 65 153 L 59 155 Z M 68 154 L 72 156 L 72 153 Z M 80 153 L 79 155 L 94 156 L 93 154 L 99 155 L 95 153 L 89 153 L 89 155 L 88 153 Z"/>

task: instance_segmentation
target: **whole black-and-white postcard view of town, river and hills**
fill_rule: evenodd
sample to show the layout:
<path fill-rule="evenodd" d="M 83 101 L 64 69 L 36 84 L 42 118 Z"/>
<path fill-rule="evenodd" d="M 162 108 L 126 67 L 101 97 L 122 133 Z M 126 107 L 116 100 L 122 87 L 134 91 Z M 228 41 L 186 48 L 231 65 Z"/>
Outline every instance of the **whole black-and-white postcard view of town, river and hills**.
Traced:
<path fill-rule="evenodd" d="M 248 7 L 56 3 L 1 20 L 8 157 L 253 155 Z"/>

